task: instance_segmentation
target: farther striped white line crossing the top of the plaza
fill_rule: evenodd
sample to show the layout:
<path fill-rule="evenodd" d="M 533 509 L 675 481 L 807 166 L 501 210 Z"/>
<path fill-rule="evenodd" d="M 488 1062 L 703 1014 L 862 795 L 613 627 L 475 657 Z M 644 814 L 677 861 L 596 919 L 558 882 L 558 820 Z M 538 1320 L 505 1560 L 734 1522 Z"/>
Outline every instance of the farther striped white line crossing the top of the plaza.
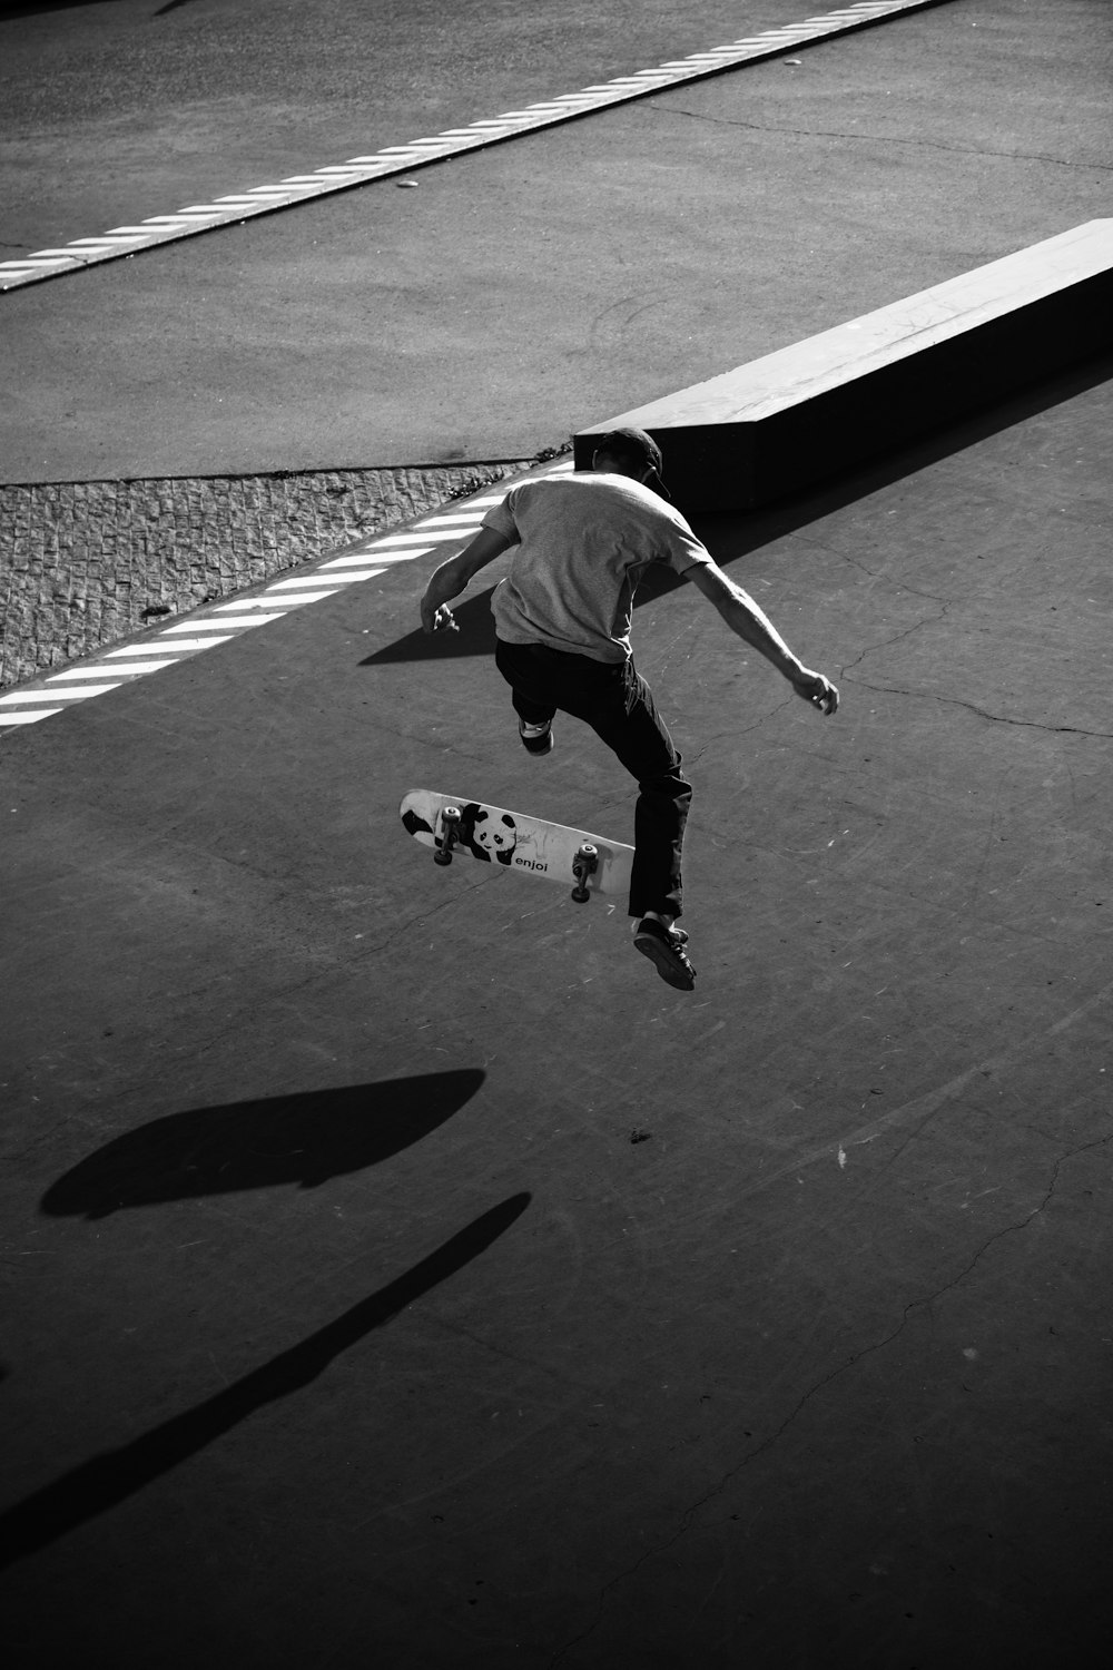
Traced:
<path fill-rule="evenodd" d="M 374 155 L 349 157 L 344 164 L 327 164 L 312 174 L 290 174 L 277 185 L 255 185 L 249 192 L 232 192 L 215 197 L 210 204 L 192 204 L 187 209 L 179 209 L 174 215 L 150 215 L 140 225 L 110 227 L 102 237 L 75 237 L 62 249 L 38 249 L 15 261 L 0 261 L 0 291 L 18 289 L 22 284 L 35 284 L 62 272 L 77 272 L 125 254 L 133 256 L 140 249 L 195 237 L 199 232 L 210 232 L 219 225 L 232 225 L 259 214 L 274 214 L 277 209 L 307 202 L 309 197 L 324 197 L 329 192 L 349 190 L 374 179 L 405 174 L 414 167 L 444 160 L 466 150 L 479 150 L 517 139 L 522 134 L 554 127 L 559 122 L 572 122 L 592 110 L 641 99 L 661 87 L 676 87 L 706 75 L 718 75 L 726 68 L 753 63 L 758 58 L 776 57 L 786 45 L 799 47 L 831 40 L 884 18 L 921 12 L 941 3 L 944 0 L 863 0 L 861 5 L 809 17 L 788 28 L 769 28 L 761 35 L 746 35 L 743 40 L 729 42 L 711 52 L 692 52 L 686 58 L 669 58 L 667 63 L 641 70 L 637 75 L 616 75 L 609 82 L 596 82 L 577 94 L 537 100 L 524 110 L 504 110 L 494 120 L 449 127 L 436 137 L 415 139 L 407 145 L 384 145 Z"/>

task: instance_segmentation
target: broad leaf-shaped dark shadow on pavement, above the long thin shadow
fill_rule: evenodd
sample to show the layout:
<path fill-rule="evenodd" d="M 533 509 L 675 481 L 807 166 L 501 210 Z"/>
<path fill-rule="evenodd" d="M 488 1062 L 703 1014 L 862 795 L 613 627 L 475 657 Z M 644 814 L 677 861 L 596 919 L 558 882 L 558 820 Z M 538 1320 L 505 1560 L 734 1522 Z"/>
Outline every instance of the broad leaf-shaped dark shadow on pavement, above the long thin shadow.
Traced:
<path fill-rule="evenodd" d="M 80 1161 L 42 1197 L 50 1217 L 108 1217 L 209 1194 L 297 1184 L 377 1166 L 419 1142 L 471 1101 L 476 1067 L 304 1091 L 232 1107 L 169 1114 Z"/>

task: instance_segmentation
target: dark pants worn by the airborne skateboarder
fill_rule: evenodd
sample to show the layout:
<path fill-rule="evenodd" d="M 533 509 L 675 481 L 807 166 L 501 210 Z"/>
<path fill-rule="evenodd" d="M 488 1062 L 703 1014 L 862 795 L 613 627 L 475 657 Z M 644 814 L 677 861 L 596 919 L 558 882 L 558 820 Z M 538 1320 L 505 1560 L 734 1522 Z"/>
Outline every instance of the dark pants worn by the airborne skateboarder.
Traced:
<path fill-rule="evenodd" d="M 679 917 L 684 908 L 681 847 L 692 790 L 681 775 L 681 755 L 652 691 L 634 663 L 592 661 L 587 655 L 499 638 L 496 665 L 514 691 L 514 711 L 521 720 L 544 725 L 557 708 L 571 713 L 591 725 L 637 780 L 629 910 L 632 917 L 647 910 Z"/>

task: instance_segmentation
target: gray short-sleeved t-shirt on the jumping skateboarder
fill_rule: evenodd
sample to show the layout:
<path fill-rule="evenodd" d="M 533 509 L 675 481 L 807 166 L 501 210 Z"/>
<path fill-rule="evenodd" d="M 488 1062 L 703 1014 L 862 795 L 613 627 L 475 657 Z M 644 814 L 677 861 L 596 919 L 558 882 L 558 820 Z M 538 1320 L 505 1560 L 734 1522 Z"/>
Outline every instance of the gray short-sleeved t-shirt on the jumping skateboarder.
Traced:
<path fill-rule="evenodd" d="M 711 556 L 679 511 L 629 476 L 541 476 L 484 516 L 519 549 L 491 608 L 506 643 L 626 661 L 637 581 L 651 563 L 682 574 Z"/>

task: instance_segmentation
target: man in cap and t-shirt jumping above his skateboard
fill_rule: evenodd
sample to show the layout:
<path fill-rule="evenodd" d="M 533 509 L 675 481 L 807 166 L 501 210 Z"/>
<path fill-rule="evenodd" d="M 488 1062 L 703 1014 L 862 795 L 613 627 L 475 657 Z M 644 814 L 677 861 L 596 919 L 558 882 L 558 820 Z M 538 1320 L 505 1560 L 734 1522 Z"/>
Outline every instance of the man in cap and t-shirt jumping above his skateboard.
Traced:
<path fill-rule="evenodd" d="M 703 591 L 731 631 L 771 661 L 821 713 L 839 693 L 788 648 L 754 600 L 714 563 L 686 519 L 666 503 L 657 444 L 641 429 L 599 438 L 591 471 L 541 476 L 511 488 L 469 544 L 442 563 L 421 600 L 427 633 L 451 628 L 452 598 L 511 546 L 511 573 L 496 588 L 496 665 L 512 691 L 529 753 L 551 753 L 557 711 L 582 720 L 637 782 L 629 912 L 634 945 L 669 985 L 691 992 L 696 970 L 682 912 L 681 850 L 691 783 L 634 668 L 631 618 L 637 581 L 664 563 Z"/>

